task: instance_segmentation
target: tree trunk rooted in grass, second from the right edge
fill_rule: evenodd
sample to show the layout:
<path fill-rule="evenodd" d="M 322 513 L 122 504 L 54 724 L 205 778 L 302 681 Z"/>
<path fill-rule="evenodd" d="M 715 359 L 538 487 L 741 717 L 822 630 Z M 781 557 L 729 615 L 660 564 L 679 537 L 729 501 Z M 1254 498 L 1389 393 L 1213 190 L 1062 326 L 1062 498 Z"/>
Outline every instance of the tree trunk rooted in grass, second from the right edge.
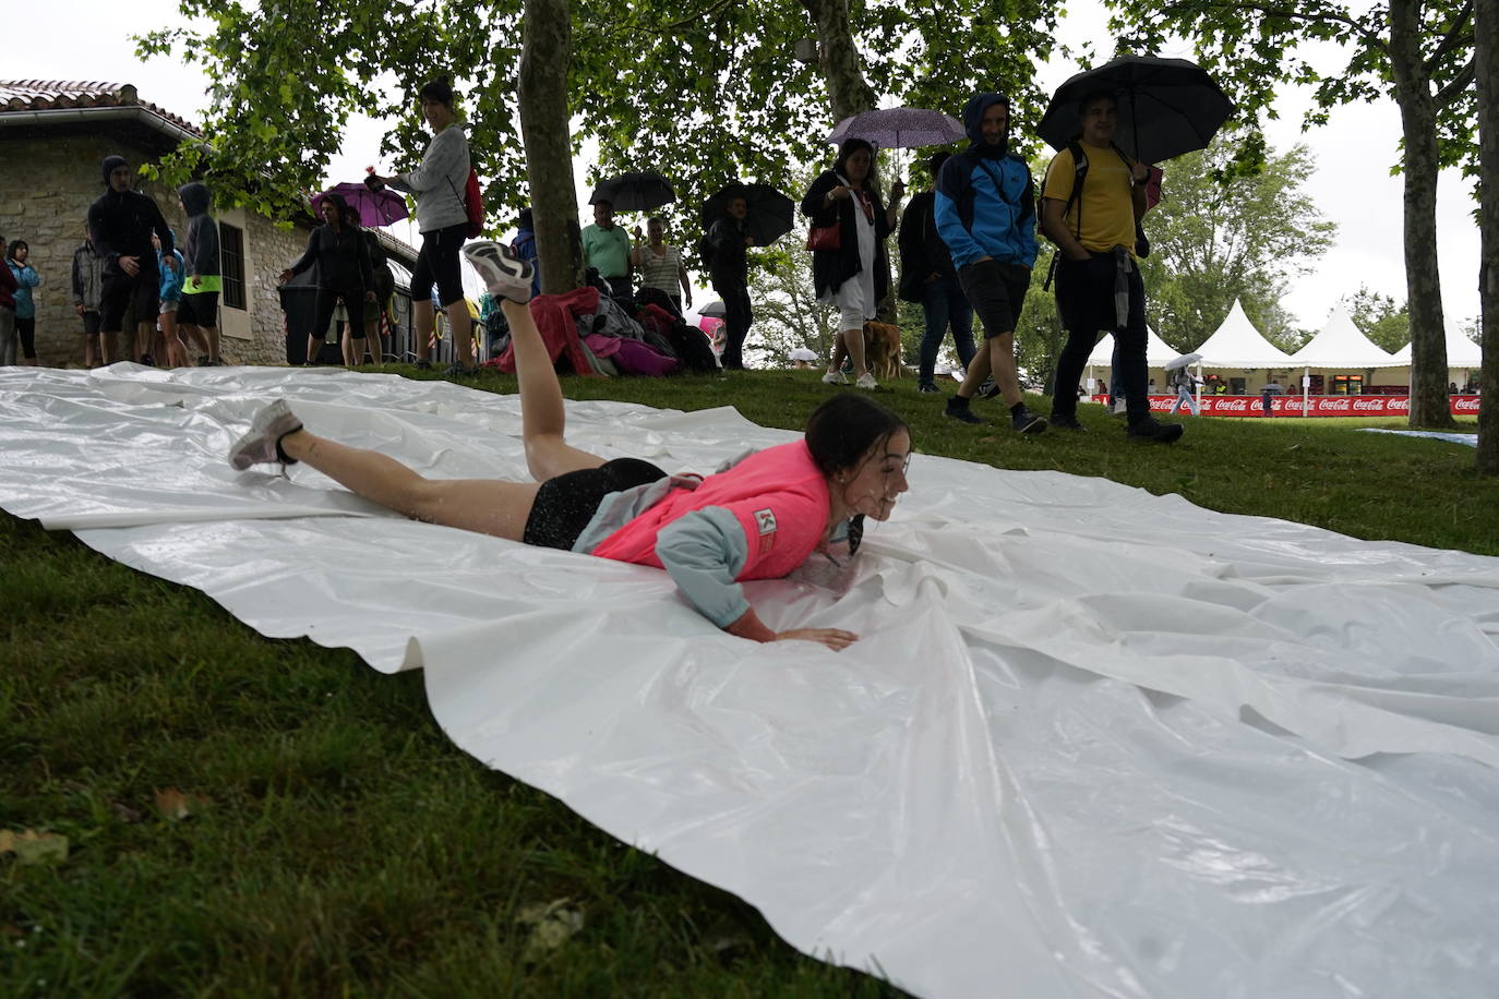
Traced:
<path fill-rule="evenodd" d="M 1447 324 L 1436 265 L 1436 108 L 1421 57 L 1420 0 L 1390 0 L 1390 69 L 1405 136 L 1405 264 L 1411 307 L 1411 425 L 1451 427 Z"/>

